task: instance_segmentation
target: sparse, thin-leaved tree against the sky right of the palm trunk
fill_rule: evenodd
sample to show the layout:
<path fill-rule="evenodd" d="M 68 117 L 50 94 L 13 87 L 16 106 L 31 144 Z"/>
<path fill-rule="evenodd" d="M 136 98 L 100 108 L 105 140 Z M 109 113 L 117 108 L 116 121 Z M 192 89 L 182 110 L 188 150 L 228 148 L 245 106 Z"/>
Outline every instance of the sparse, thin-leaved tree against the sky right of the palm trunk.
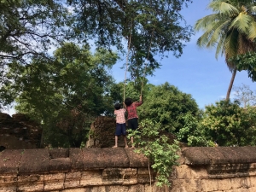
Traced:
<path fill-rule="evenodd" d="M 246 84 L 242 86 L 234 87 L 236 100 L 243 104 L 243 108 L 253 106 L 256 103 L 256 95 L 253 94 L 253 90 Z"/>

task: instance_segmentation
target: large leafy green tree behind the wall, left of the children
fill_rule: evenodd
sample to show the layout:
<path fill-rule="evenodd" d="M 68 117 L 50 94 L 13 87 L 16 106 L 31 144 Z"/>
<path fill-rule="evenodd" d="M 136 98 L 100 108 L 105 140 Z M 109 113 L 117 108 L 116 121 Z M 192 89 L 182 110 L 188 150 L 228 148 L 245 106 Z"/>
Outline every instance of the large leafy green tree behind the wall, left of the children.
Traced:
<path fill-rule="evenodd" d="M 10 65 L 9 89 L 16 91 L 16 109 L 44 126 L 44 143 L 80 147 L 91 120 L 113 113 L 108 96 L 113 79 L 108 73 L 118 59 L 113 52 L 73 43 L 55 51 L 55 61 L 33 60 L 29 66 Z"/>

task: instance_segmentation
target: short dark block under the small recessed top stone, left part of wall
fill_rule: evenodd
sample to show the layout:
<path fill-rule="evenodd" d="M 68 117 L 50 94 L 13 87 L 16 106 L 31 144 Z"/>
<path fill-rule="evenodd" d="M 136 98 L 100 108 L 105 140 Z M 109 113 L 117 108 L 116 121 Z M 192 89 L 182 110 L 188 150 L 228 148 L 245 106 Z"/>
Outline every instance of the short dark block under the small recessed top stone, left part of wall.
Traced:
<path fill-rule="evenodd" d="M 71 160 L 69 158 L 58 158 L 49 160 L 49 172 L 69 172 Z"/>

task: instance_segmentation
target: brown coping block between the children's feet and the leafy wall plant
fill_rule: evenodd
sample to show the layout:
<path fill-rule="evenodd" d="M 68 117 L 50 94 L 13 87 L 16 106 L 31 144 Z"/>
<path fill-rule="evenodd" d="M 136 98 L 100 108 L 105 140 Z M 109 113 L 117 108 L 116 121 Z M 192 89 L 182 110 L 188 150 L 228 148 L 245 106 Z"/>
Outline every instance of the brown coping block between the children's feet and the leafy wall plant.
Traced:
<path fill-rule="evenodd" d="M 135 153 L 133 148 L 125 148 L 125 152 L 130 160 L 130 167 L 148 167 L 148 158 L 143 154 Z"/>

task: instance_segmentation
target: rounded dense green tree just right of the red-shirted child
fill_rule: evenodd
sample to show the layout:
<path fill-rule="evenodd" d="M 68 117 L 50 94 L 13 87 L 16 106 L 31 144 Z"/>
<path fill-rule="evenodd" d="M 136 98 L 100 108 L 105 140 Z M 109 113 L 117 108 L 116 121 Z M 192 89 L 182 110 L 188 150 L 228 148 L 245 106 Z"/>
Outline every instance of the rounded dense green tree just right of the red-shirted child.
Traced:
<path fill-rule="evenodd" d="M 192 96 L 168 83 L 148 86 L 143 96 L 143 105 L 137 110 L 140 119 L 152 119 L 159 122 L 166 131 L 173 133 L 183 127 L 184 115 L 199 114 L 198 106 Z"/>

